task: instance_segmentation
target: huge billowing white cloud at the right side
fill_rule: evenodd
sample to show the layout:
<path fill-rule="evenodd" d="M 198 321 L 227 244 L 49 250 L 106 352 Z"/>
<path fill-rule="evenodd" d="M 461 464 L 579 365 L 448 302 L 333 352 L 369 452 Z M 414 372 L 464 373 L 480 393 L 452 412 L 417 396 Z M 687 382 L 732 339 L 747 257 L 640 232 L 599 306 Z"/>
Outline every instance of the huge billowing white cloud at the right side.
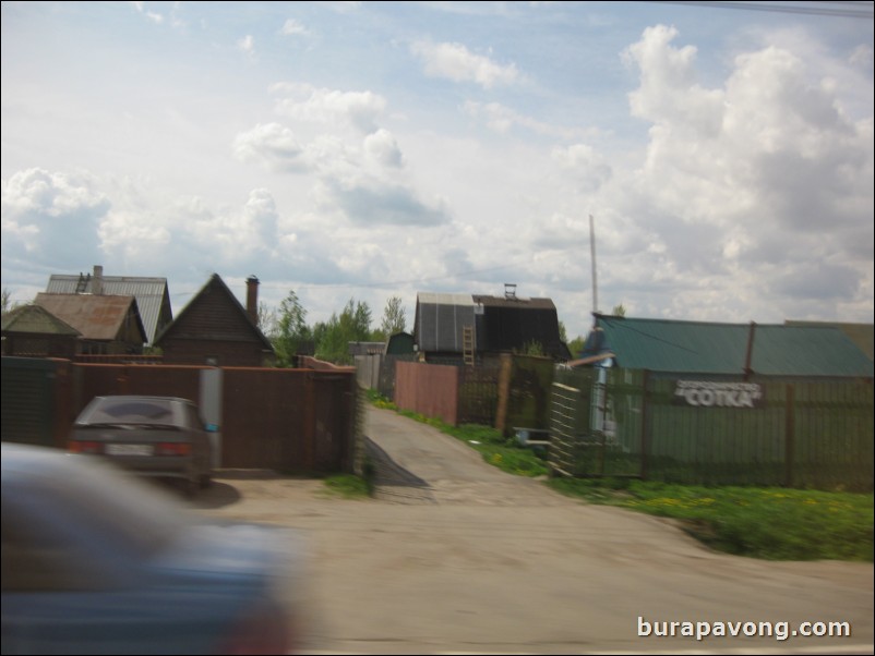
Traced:
<path fill-rule="evenodd" d="M 724 86 L 707 90 L 695 49 L 673 47 L 676 36 L 651 27 L 625 51 L 640 73 L 632 113 L 651 127 L 643 166 L 618 184 L 658 245 L 630 266 L 678 283 L 693 276 L 686 314 L 702 318 L 721 304 L 775 313 L 755 300 L 764 288 L 788 308 L 814 306 L 830 288 L 859 299 L 872 279 L 872 222 L 860 221 L 873 211 L 871 130 L 838 109 L 813 60 L 774 46 L 743 52 Z"/>

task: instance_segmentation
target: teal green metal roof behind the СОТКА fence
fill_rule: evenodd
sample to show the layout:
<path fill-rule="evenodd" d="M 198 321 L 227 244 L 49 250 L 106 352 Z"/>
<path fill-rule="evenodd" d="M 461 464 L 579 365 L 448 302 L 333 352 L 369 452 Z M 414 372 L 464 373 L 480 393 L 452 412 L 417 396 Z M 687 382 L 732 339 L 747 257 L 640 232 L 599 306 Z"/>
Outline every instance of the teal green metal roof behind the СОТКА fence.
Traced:
<path fill-rule="evenodd" d="M 831 327 L 710 324 L 597 317 L 618 365 L 685 374 L 742 375 L 753 330 L 751 369 L 765 376 L 872 377 L 873 365 Z"/>

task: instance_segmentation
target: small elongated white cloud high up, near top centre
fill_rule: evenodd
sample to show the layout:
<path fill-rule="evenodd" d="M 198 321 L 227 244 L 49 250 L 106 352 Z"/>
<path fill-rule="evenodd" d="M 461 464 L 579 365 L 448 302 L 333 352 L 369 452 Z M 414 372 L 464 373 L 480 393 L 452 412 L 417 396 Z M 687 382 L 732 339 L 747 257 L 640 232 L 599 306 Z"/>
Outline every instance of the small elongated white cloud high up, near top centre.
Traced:
<path fill-rule="evenodd" d="M 520 78 L 516 64 L 496 64 L 488 57 L 475 54 L 462 44 L 421 40 L 412 44 L 410 51 L 422 60 L 425 74 L 431 77 L 474 82 L 487 89 L 512 85 Z"/>

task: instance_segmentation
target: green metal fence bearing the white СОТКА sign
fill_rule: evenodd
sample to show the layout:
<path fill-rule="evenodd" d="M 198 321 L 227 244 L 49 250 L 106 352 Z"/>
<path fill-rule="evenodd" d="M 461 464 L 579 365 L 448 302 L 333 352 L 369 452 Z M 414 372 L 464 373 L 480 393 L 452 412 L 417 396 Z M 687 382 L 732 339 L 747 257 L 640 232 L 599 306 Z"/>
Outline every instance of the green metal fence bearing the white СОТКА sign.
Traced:
<path fill-rule="evenodd" d="M 868 380 L 684 380 L 588 369 L 563 373 L 553 387 L 550 460 L 563 475 L 873 487 Z"/>

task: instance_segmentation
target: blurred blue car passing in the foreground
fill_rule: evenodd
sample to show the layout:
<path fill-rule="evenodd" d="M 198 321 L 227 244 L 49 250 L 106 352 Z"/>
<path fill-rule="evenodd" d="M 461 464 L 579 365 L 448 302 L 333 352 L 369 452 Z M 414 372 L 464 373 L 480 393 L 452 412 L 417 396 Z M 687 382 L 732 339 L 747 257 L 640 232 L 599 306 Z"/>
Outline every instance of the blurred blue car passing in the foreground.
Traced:
<path fill-rule="evenodd" d="M 2 445 L 3 654 L 287 654 L 301 536 L 213 523 L 101 459 Z"/>

